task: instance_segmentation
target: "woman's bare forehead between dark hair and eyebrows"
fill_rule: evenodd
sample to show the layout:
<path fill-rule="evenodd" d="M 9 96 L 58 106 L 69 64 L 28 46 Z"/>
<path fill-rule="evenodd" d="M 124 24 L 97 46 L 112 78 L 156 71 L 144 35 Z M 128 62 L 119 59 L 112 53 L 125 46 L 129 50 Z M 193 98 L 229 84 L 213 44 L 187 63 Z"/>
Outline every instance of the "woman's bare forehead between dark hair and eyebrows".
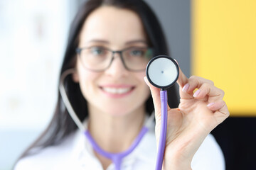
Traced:
<path fill-rule="evenodd" d="M 102 6 L 90 13 L 80 34 L 80 42 L 104 39 L 112 43 L 146 40 L 142 21 L 134 11 Z"/>

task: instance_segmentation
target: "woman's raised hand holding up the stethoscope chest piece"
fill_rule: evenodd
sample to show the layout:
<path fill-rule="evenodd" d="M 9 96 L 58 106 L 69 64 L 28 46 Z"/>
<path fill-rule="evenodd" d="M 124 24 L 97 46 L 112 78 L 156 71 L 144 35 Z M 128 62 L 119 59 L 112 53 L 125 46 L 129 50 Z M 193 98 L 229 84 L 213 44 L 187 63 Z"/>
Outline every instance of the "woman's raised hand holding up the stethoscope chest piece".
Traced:
<path fill-rule="evenodd" d="M 206 136 L 228 118 L 229 111 L 223 101 L 224 92 L 213 82 L 201 77 L 189 79 L 179 69 L 178 108 L 169 108 L 166 132 L 164 169 L 191 169 L 193 155 Z M 156 117 L 156 142 L 158 146 L 161 127 L 160 89 L 152 86 L 145 77 L 154 101 Z M 198 89 L 194 94 L 193 91 Z"/>

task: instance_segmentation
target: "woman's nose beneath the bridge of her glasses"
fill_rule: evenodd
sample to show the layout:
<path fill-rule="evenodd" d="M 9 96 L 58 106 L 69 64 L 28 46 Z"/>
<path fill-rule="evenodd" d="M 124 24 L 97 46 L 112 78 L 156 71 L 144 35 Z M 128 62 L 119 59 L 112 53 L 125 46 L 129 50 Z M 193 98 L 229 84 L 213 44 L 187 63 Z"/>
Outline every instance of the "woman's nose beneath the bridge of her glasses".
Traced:
<path fill-rule="evenodd" d="M 112 77 L 125 77 L 128 74 L 128 70 L 124 67 L 124 63 L 121 59 L 121 54 L 115 52 L 113 54 L 112 63 L 110 64 L 110 67 L 105 70 L 105 73 L 107 75 L 110 75 Z"/>

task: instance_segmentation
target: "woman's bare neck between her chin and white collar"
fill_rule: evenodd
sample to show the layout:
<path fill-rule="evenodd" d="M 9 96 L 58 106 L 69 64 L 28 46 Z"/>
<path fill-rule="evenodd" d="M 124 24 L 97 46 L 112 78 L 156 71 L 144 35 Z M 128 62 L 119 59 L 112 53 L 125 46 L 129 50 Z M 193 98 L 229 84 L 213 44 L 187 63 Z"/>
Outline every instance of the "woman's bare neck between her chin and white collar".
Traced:
<path fill-rule="evenodd" d="M 126 115 L 110 115 L 95 109 L 89 110 L 90 134 L 107 152 L 117 153 L 128 149 L 144 123 L 144 107 Z"/>

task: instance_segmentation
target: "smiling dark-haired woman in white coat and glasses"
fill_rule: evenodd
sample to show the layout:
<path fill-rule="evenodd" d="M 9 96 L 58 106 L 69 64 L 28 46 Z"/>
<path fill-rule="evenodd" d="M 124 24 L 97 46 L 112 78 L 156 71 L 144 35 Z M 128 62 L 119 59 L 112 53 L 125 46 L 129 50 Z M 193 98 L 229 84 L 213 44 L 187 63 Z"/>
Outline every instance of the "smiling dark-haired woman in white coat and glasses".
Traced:
<path fill-rule="evenodd" d="M 61 75 L 75 70 L 64 77 L 65 91 L 92 141 L 77 130 L 59 94 L 50 125 L 15 169 L 114 169 L 115 160 L 96 152 L 92 142 L 108 153 L 125 152 L 144 126 L 148 132 L 119 166 L 154 169 L 161 108 L 159 89 L 144 79 L 144 70 L 156 55 L 168 50 L 144 1 L 87 1 L 72 24 Z M 220 148 L 208 135 L 229 115 L 223 91 L 201 77 L 188 79 L 181 69 L 178 85 L 179 105 L 176 89 L 169 89 L 174 109 L 168 108 L 163 168 L 224 169 Z"/>

